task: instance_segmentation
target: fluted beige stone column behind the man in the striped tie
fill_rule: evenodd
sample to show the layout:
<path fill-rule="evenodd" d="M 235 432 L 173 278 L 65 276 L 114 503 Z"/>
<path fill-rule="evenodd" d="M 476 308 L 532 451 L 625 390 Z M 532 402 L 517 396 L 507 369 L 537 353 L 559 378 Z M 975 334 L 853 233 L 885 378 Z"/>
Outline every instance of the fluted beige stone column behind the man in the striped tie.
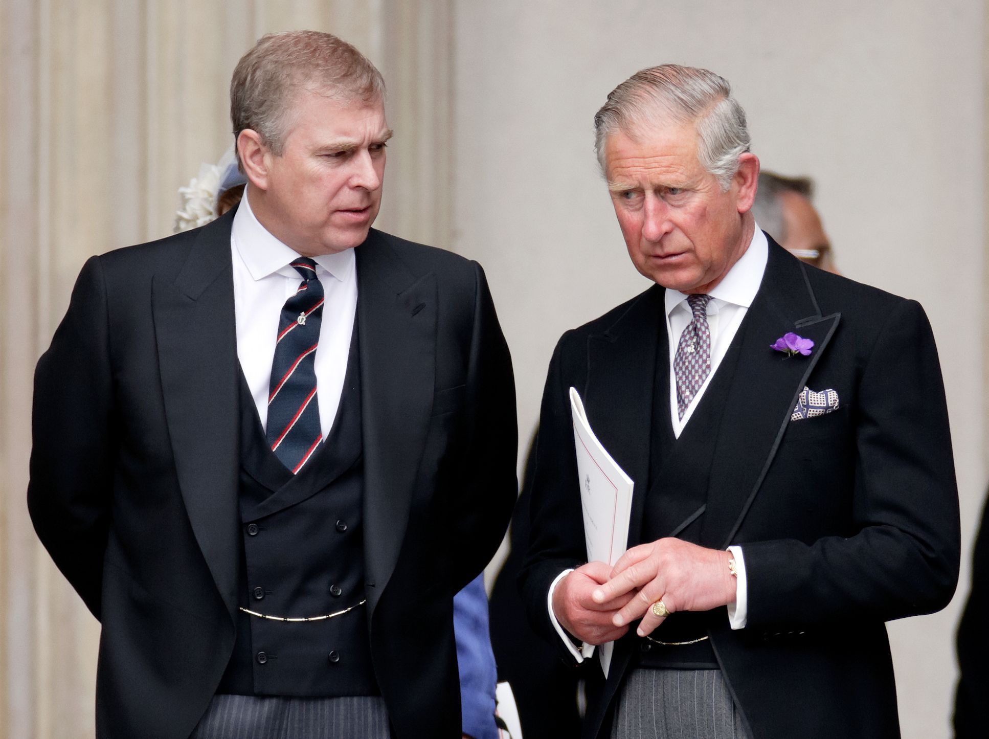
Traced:
<path fill-rule="evenodd" d="M 0 739 L 94 733 L 99 624 L 25 504 L 34 365 L 82 262 L 171 231 L 177 189 L 232 139 L 236 60 L 298 28 L 382 68 L 398 136 L 380 225 L 448 243 L 450 26 L 446 0 L 0 4 Z"/>

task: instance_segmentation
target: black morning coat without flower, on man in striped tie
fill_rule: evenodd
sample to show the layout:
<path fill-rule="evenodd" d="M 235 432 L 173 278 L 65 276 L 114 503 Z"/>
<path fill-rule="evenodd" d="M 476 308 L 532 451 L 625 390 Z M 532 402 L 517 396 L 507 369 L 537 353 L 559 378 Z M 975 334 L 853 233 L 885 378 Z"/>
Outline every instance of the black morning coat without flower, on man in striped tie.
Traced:
<path fill-rule="evenodd" d="M 101 739 L 188 737 L 233 648 L 231 223 L 91 258 L 38 365 L 29 506 L 102 624 Z M 453 595 L 517 493 L 511 363 L 478 264 L 374 230 L 356 255 L 374 670 L 396 737 L 452 739 Z"/>

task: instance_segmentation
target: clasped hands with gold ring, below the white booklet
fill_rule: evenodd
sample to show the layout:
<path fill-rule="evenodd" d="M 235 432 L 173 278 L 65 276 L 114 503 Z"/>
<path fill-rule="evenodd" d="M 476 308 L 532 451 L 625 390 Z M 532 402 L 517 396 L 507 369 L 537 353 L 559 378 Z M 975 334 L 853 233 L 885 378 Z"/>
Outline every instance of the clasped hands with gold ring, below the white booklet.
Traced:
<path fill-rule="evenodd" d="M 588 562 L 569 573 L 553 591 L 560 624 L 588 644 L 614 641 L 642 618 L 636 632 L 646 636 L 663 623 L 652 604 L 667 610 L 710 610 L 735 602 L 731 554 L 680 539 L 659 539 L 632 547 L 610 567 Z"/>

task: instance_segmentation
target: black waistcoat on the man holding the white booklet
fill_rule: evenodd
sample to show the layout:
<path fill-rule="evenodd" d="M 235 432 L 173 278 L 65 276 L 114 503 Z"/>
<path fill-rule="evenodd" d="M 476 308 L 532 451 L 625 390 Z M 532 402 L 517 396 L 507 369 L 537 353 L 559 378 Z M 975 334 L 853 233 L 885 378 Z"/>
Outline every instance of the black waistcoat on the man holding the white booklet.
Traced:
<path fill-rule="evenodd" d="M 743 324 L 739 326 L 727 354 L 721 360 L 679 438 L 674 436 L 670 418 L 669 383 L 673 372 L 670 368 L 670 347 L 666 340 L 657 342 L 649 487 L 642 520 L 643 542 L 675 536 L 693 544 L 720 546 L 721 542 L 701 541 L 701 531 L 714 449 L 721 431 L 728 391 L 741 354 L 744 331 Z M 650 636 L 665 642 L 692 641 L 705 636 L 707 624 L 717 619 L 728 621 L 726 608 L 674 613 Z M 679 646 L 664 646 L 648 639 L 639 641 L 639 664 L 644 667 L 718 667 L 710 640 Z"/>

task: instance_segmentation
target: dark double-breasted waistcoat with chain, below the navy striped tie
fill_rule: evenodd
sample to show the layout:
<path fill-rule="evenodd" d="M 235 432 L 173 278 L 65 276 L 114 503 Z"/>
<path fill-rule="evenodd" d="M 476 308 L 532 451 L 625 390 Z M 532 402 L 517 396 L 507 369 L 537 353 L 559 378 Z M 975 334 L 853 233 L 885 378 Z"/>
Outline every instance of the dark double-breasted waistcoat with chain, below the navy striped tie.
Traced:
<path fill-rule="evenodd" d="M 364 599 L 363 463 L 357 331 L 329 437 L 298 475 L 265 441 L 240 378 L 240 601 L 268 615 L 323 615 Z M 286 623 L 237 612 L 218 693 L 377 695 L 366 605 Z"/>

